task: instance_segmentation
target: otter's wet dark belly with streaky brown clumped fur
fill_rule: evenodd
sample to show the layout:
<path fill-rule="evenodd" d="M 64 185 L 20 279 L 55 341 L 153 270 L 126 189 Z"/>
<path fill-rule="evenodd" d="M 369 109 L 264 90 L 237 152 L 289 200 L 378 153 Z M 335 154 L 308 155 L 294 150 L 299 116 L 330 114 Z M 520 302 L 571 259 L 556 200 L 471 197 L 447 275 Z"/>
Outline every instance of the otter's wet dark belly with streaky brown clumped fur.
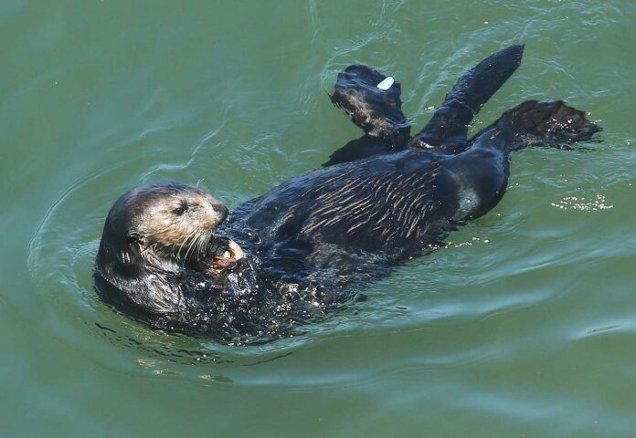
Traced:
<path fill-rule="evenodd" d="M 379 252 L 389 258 L 436 244 L 478 203 L 445 155 L 408 150 L 310 172 L 249 207 L 263 240 Z M 312 250 L 309 250 L 310 253 Z"/>

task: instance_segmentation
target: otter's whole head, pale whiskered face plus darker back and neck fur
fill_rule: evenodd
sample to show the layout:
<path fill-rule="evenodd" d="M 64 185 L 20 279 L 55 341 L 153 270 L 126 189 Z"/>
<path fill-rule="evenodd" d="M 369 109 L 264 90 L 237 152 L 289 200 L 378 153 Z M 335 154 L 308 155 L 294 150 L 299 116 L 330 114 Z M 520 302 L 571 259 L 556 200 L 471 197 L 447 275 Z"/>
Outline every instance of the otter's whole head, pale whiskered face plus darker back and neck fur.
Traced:
<path fill-rule="evenodd" d="M 198 187 L 175 182 L 136 187 L 106 218 L 97 269 L 131 276 L 143 267 L 173 270 L 201 255 L 227 216 L 228 208 Z"/>

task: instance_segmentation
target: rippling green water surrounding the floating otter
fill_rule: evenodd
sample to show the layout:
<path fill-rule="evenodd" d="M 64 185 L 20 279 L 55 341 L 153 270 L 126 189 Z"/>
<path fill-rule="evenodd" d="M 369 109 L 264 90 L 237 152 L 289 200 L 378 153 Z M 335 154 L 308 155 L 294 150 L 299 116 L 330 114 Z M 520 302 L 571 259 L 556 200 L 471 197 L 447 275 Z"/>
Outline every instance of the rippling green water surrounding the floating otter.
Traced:
<path fill-rule="evenodd" d="M 0 4 L 0 435 L 636 436 L 631 0 Z M 359 131 L 325 91 L 366 63 L 422 126 L 525 42 L 484 107 L 567 99 L 592 151 L 514 155 L 490 214 L 302 336 L 167 336 L 91 269 L 111 203 L 196 183 L 236 206 Z"/>

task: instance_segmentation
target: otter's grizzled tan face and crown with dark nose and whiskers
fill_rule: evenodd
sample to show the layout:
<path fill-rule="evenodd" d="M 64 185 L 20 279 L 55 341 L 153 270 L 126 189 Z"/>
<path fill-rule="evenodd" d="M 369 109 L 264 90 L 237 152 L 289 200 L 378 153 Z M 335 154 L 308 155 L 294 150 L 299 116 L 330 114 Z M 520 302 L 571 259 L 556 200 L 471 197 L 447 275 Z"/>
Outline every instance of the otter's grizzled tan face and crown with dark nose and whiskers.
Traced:
<path fill-rule="evenodd" d="M 228 208 L 198 187 L 151 183 L 125 193 L 112 207 L 107 231 L 124 234 L 151 263 L 179 262 L 201 255 Z"/>

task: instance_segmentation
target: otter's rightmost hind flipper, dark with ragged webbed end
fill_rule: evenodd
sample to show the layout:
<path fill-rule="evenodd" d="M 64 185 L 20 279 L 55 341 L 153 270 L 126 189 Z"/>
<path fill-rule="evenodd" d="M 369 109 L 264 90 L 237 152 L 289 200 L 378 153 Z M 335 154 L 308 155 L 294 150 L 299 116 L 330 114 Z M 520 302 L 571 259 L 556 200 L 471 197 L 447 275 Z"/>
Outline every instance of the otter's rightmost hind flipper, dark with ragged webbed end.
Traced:
<path fill-rule="evenodd" d="M 505 111 L 493 127 L 511 135 L 511 151 L 530 146 L 573 149 L 576 141 L 589 141 L 602 130 L 586 119 L 585 112 L 567 106 L 562 100 L 527 100 Z"/>

